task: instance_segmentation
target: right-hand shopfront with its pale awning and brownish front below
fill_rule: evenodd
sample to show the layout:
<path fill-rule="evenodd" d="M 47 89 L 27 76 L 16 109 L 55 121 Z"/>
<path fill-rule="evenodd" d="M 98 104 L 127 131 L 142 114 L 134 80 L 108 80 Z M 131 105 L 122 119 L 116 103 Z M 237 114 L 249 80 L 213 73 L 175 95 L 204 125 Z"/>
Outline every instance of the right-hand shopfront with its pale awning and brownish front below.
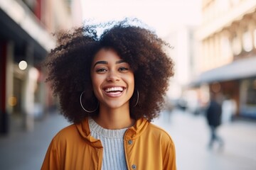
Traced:
<path fill-rule="evenodd" d="M 222 101 L 235 101 L 235 115 L 256 118 L 255 66 L 256 57 L 236 60 L 223 67 L 203 72 L 191 86 L 208 84 L 221 94 Z"/>

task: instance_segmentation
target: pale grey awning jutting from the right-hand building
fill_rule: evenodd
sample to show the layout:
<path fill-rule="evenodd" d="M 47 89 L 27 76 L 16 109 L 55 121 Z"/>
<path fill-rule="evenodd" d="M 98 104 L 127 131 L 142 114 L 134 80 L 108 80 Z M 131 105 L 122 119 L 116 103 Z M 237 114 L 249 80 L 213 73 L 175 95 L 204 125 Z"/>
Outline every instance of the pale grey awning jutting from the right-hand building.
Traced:
<path fill-rule="evenodd" d="M 191 83 L 191 86 L 198 86 L 214 81 L 230 81 L 249 77 L 256 77 L 256 57 L 237 60 L 223 67 L 203 72 L 196 81 Z"/>

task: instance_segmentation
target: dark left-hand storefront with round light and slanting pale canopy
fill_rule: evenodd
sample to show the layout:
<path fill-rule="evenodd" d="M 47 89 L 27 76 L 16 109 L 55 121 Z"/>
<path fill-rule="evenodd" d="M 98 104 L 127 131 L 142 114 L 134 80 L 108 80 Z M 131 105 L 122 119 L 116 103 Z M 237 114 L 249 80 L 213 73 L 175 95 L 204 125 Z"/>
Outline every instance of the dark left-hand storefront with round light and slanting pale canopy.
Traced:
<path fill-rule="evenodd" d="M 13 115 L 33 129 L 28 126 L 33 126 L 36 101 L 44 104 L 46 96 L 43 89 L 36 91 L 43 86 L 40 62 L 55 41 L 26 7 L 16 1 L 0 1 L 0 6 L 0 133 L 6 134 Z"/>

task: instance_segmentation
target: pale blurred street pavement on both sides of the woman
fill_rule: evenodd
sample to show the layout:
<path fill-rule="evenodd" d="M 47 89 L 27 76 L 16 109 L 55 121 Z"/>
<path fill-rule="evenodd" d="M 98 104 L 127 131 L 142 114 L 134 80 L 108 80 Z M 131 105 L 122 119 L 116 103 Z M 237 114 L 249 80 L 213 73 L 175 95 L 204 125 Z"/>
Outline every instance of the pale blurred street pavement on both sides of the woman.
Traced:
<path fill-rule="evenodd" d="M 252 170 L 256 168 L 256 123 L 235 120 L 222 125 L 223 149 L 208 149 L 208 127 L 202 115 L 182 111 L 162 113 L 154 124 L 164 128 L 176 145 L 177 169 Z M 36 122 L 33 132 L 14 132 L 0 137 L 0 167 L 6 170 L 40 169 L 50 140 L 68 125 L 58 114 Z"/>

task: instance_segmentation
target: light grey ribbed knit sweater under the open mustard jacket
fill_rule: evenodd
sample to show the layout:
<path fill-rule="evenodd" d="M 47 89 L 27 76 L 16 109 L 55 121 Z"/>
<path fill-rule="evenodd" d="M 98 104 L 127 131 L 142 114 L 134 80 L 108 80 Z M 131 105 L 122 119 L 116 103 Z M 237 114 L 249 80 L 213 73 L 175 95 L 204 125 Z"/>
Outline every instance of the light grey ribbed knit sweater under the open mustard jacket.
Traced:
<path fill-rule="evenodd" d="M 102 170 L 127 169 L 124 156 L 124 132 L 127 128 L 120 130 L 108 130 L 102 128 L 92 118 L 89 118 L 89 127 L 92 137 L 95 137 L 95 139 L 102 142 Z"/>

